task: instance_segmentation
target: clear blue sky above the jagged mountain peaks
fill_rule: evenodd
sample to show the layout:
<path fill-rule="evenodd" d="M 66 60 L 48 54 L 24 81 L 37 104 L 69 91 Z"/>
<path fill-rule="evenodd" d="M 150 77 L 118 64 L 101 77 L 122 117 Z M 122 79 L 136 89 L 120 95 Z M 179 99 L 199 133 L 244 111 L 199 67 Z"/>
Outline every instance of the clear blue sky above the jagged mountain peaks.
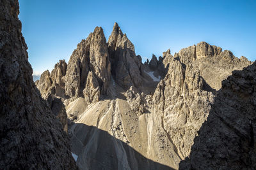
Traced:
<path fill-rule="evenodd" d="M 115 22 L 143 60 L 206 41 L 256 59 L 256 1 L 19 0 L 22 33 L 35 73 L 68 62 L 96 26 L 108 41 Z"/>

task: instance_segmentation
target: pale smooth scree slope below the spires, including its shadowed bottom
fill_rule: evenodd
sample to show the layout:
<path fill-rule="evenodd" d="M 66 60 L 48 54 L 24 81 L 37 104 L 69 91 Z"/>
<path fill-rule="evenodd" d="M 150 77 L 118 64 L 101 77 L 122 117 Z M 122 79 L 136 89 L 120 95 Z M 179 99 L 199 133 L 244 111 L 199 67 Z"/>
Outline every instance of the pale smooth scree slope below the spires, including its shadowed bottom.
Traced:
<path fill-rule="evenodd" d="M 148 117 L 138 115 L 122 99 L 93 104 L 70 130 L 79 169 L 172 169 L 179 157 L 173 154 L 172 146 L 164 150 L 170 145 L 168 139 L 161 129 L 148 129 Z M 160 132 L 161 138 L 148 136 Z M 148 138 L 154 138 L 156 147 L 150 147 Z"/>

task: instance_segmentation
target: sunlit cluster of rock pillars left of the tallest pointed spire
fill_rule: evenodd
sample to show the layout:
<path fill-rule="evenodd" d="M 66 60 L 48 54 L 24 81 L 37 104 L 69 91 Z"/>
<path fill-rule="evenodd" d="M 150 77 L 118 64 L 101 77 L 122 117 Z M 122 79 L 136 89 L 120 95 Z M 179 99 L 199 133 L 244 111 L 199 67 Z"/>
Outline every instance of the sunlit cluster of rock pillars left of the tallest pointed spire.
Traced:
<path fill-rule="evenodd" d="M 40 90 L 42 97 L 46 99 L 56 111 L 60 106 L 59 101 L 65 101 L 66 105 L 79 97 L 84 98 L 84 104 L 99 101 L 100 96 L 107 94 L 110 80 L 110 68 L 108 46 L 101 27 L 96 27 L 87 39 L 83 39 L 72 53 L 68 64 L 60 60 L 54 69 L 42 73 L 36 87 Z M 84 106 L 84 107 L 86 107 Z M 64 104 L 57 117 L 62 117 L 61 122 L 67 129 L 65 120 Z M 77 117 L 77 114 L 68 114 L 68 117 Z M 62 121 L 63 120 L 63 121 Z"/>

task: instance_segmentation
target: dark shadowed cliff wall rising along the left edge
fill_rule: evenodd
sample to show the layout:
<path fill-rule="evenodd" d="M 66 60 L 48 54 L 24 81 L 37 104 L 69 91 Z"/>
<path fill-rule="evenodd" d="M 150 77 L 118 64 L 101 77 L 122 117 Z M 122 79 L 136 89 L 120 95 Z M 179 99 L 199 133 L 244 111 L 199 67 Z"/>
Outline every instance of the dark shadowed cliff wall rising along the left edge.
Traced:
<path fill-rule="evenodd" d="M 40 96 L 18 19 L 0 3 L 0 169 L 76 169 L 67 134 Z"/>

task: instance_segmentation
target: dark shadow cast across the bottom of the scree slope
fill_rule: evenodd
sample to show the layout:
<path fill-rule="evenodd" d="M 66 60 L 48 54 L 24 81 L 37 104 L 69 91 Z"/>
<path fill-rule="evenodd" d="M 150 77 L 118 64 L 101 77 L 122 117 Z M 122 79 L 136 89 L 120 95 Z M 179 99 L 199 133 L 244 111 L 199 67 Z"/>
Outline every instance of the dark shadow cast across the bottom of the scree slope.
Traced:
<path fill-rule="evenodd" d="M 108 132 L 85 124 L 72 127 L 72 152 L 79 169 L 172 169 L 143 157 Z"/>

